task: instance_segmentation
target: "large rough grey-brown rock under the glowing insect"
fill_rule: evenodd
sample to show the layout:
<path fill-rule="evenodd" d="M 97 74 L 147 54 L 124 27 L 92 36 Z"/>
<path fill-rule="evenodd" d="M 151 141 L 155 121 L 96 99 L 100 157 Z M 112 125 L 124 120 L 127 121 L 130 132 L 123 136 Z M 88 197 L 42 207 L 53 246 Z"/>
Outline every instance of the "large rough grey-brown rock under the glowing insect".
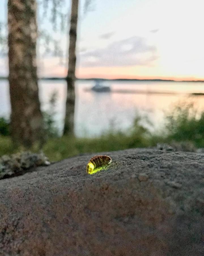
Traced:
<path fill-rule="evenodd" d="M 204 255 L 204 154 L 103 153 L 1 180 L 0 255 Z"/>

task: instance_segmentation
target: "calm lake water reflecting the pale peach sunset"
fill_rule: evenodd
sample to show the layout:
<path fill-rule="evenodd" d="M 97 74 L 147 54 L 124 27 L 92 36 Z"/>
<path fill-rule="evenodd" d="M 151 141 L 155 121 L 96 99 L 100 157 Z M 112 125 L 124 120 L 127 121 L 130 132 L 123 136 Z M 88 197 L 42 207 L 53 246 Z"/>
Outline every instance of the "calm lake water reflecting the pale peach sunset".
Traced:
<path fill-rule="evenodd" d="M 194 101 L 199 110 L 204 110 L 204 96 L 189 96 L 189 93 L 203 92 L 202 82 L 107 82 L 112 90 L 139 90 L 140 93 L 96 93 L 85 91 L 94 82 L 76 82 L 75 133 L 78 137 L 100 135 L 114 125 L 114 129 L 126 131 L 131 127 L 136 113 L 146 115 L 153 123 L 150 129 L 160 129 L 164 122 L 164 113 L 182 101 Z M 141 93 L 141 90 L 144 93 Z M 145 92 L 156 91 L 161 94 Z M 57 92 L 56 125 L 63 127 L 65 115 L 65 81 L 44 80 L 39 82 L 39 94 L 42 110 L 49 109 L 49 99 Z M 162 92 L 164 94 L 162 94 Z M 165 94 L 173 92 L 175 94 Z M 0 116 L 9 117 L 10 102 L 8 81 L 0 80 Z"/>

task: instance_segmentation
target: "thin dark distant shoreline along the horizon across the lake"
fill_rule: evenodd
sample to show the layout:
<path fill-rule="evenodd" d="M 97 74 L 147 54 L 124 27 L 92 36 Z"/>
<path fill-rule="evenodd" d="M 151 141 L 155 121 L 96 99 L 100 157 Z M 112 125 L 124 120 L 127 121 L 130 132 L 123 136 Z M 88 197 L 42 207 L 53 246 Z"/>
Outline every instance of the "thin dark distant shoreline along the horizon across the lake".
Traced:
<path fill-rule="evenodd" d="M 0 80 L 8 80 L 8 77 L 0 77 Z M 41 77 L 39 80 L 66 80 L 65 77 Z M 79 81 L 155 81 L 155 82 L 204 82 L 204 80 L 168 80 L 168 79 L 105 79 L 105 78 L 77 78 Z"/>

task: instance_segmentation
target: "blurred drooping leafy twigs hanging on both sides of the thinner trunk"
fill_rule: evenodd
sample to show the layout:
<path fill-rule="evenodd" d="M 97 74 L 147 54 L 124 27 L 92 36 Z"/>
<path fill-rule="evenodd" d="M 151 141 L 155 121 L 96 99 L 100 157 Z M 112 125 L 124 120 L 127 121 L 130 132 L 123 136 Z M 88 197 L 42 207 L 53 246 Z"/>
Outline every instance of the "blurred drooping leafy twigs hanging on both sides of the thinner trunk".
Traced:
<path fill-rule="evenodd" d="M 93 1 L 84 1 L 84 17 L 93 10 Z M 55 56 L 59 57 L 60 65 L 65 64 L 66 61 L 64 59 L 67 58 L 67 52 L 63 52 L 61 40 L 62 36 L 67 36 L 69 28 L 69 5 L 65 0 L 37 0 L 37 2 L 39 5 L 38 28 L 41 58 L 43 59 L 47 55 Z M 49 29 L 44 26 L 47 21 L 51 24 Z"/>

